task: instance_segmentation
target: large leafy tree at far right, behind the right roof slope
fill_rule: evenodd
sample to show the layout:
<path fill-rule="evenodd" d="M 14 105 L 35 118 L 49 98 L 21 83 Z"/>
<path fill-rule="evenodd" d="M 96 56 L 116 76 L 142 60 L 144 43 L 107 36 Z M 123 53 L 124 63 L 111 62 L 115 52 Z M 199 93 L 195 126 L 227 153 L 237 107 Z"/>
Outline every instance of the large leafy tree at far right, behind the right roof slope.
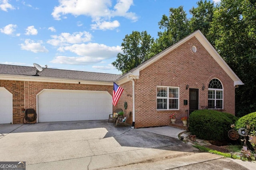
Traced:
<path fill-rule="evenodd" d="M 236 89 L 236 115 L 256 110 L 256 0 L 222 0 L 214 12 L 209 36 L 244 82 Z"/>

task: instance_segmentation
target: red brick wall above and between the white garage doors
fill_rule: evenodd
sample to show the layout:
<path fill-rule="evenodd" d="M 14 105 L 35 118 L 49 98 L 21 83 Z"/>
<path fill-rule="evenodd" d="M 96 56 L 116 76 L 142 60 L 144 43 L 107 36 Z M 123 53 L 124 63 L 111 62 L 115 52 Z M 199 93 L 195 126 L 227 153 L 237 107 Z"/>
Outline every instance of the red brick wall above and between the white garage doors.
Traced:
<path fill-rule="evenodd" d="M 43 89 L 107 91 L 111 96 L 113 91 L 113 86 L 104 85 L 10 80 L 0 80 L 0 87 L 4 87 L 12 93 L 14 124 L 23 123 L 24 113 L 21 111 L 22 108 L 33 108 L 36 110 L 36 95 Z"/>

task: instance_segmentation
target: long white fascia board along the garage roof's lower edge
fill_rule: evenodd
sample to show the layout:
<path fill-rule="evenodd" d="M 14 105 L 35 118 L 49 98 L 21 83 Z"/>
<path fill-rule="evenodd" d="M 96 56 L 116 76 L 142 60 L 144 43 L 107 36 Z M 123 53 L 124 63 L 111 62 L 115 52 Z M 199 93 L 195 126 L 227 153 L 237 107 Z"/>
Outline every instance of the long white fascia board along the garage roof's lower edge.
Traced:
<path fill-rule="evenodd" d="M 52 77 L 39 77 L 39 76 L 20 76 L 20 75 L 10 75 L 10 74 L 0 74 L 0 80 L 15 80 L 15 81 L 33 81 L 33 82 L 54 82 L 54 83 L 72 83 L 72 84 L 95 84 L 95 85 L 106 85 L 112 86 L 112 82 L 102 82 L 102 81 L 86 81 L 79 79 L 65 79 L 65 78 L 52 78 Z"/>

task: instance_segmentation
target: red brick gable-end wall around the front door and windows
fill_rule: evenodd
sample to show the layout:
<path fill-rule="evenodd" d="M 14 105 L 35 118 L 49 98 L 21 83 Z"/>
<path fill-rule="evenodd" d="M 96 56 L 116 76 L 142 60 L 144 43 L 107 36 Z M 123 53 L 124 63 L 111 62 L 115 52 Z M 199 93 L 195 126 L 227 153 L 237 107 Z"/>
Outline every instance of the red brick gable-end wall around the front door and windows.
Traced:
<path fill-rule="evenodd" d="M 196 53 L 191 51 L 192 45 L 197 47 Z M 208 106 L 208 84 L 212 78 L 222 82 L 224 111 L 234 114 L 234 82 L 195 37 L 150 64 L 140 71 L 139 79 L 135 80 L 135 128 L 168 125 L 170 113 L 177 113 L 178 121 L 186 116 L 185 110 L 189 109 L 189 90 L 186 90 L 186 84 L 189 88 L 199 89 L 199 108 Z M 206 87 L 204 90 L 202 84 Z M 157 111 L 158 85 L 180 88 L 179 110 Z M 188 100 L 188 105 L 184 106 L 183 100 Z"/>

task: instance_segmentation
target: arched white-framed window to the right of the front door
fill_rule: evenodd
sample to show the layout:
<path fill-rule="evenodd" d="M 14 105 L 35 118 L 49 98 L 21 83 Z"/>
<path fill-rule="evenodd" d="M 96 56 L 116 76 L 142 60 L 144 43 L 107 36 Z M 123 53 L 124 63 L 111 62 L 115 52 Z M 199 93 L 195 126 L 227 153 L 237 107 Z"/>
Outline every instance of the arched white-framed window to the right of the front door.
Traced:
<path fill-rule="evenodd" d="M 217 78 L 213 78 L 208 85 L 208 107 L 223 109 L 223 88 Z"/>

